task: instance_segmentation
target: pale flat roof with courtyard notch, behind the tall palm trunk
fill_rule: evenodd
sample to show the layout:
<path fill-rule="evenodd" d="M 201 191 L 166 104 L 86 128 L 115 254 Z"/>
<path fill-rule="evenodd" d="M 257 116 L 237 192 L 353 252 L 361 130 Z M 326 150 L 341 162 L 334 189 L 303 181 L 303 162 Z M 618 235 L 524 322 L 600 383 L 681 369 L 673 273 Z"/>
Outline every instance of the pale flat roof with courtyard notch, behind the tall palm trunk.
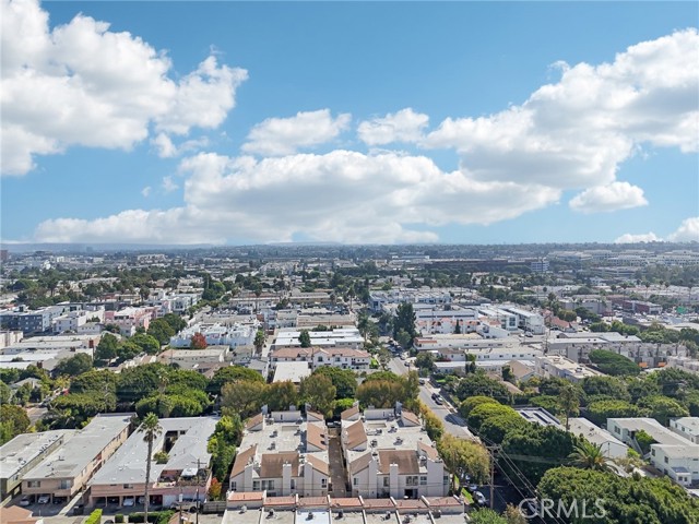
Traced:
<path fill-rule="evenodd" d="M 153 443 L 153 453 L 163 448 L 168 432 L 176 431 L 183 434 L 177 438 L 168 453 L 169 460 L 166 464 L 151 464 L 151 481 L 157 481 L 163 471 L 206 467 L 211 460 L 206 444 L 217 421 L 218 419 L 214 417 L 162 418 L 159 424 L 163 432 Z M 143 440 L 143 433 L 134 431 L 95 474 L 90 485 L 142 483 L 145 477 L 146 449 L 147 443 Z"/>

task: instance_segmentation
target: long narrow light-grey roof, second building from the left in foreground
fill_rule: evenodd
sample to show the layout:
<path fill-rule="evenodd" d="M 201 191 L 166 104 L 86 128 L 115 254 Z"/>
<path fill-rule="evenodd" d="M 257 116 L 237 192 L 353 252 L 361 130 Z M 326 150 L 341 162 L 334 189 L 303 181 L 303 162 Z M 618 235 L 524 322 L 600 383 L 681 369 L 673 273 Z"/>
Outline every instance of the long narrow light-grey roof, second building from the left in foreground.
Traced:
<path fill-rule="evenodd" d="M 24 478 L 40 480 L 78 476 L 130 424 L 130 414 L 97 415 Z"/>

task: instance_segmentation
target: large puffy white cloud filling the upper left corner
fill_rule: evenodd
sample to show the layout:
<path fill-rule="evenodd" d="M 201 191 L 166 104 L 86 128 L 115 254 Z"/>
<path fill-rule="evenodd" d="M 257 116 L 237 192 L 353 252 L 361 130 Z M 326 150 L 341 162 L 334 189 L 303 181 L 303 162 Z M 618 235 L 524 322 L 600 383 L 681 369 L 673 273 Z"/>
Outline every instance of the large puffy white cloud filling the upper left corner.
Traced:
<path fill-rule="evenodd" d="M 247 79 L 211 56 L 175 81 L 167 55 L 138 36 L 83 14 L 50 28 L 37 0 L 1 1 L 3 175 L 72 145 L 129 150 L 151 126 L 216 128 Z"/>

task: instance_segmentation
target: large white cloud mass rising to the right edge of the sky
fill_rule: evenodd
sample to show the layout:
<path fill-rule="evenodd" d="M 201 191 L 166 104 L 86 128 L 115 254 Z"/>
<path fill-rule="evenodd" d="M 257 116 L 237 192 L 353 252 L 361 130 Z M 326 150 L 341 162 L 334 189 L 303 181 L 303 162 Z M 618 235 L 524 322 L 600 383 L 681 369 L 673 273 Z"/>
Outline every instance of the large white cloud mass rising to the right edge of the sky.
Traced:
<path fill-rule="evenodd" d="M 448 118 L 426 147 L 453 147 L 477 180 L 608 186 L 639 145 L 699 150 L 699 36 L 678 31 L 611 63 L 561 68 L 557 83 L 481 118 Z"/>

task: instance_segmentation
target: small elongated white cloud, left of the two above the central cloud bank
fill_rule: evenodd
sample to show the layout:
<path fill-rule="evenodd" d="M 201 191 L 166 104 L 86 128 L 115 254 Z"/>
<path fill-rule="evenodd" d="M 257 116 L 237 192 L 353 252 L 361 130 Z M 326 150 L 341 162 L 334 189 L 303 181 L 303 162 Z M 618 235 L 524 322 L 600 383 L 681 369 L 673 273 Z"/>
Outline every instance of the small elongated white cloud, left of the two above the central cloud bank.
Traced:
<path fill-rule="evenodd" d="M 330 109 L 299 111 L 289 118 L 268 118 L 252 128 L 242 151 L 258 155 L 292 155 L 324 144 L 347 129 L 347 114 L 332 118 Z"/>

